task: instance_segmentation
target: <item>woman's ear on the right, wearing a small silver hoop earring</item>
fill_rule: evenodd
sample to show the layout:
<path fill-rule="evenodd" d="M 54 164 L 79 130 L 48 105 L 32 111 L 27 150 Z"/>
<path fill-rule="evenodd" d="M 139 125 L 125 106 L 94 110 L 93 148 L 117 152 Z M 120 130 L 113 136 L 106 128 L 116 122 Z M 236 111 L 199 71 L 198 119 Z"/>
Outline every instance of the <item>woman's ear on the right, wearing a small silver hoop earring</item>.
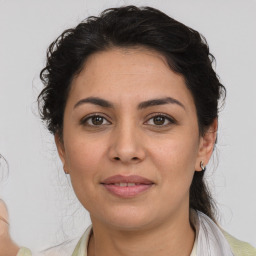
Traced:
<path fill-rule="evenodd" d="M 206 166 L 211 158 L 218 130 L 218 119 L 215 118 L 209 128 L 205 133 L 200 137 L 198 155 L 195 165 L 196 171 L 201 171 L 201 162 Z"/>

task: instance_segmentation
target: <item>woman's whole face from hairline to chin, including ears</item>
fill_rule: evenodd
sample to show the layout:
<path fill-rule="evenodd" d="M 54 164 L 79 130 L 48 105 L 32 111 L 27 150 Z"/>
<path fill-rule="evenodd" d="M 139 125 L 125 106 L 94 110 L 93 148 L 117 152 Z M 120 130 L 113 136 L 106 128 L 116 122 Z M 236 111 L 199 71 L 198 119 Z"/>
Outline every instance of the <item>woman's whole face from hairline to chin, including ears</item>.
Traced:
<path fill-rule="evenodd" d="M 56 143 L 93 223 L 125 230 L 187 215 L 194 171 L 214 144 L 199 136 L 184 78 L 143 48 L 89 57 L 72 82 Z"/>

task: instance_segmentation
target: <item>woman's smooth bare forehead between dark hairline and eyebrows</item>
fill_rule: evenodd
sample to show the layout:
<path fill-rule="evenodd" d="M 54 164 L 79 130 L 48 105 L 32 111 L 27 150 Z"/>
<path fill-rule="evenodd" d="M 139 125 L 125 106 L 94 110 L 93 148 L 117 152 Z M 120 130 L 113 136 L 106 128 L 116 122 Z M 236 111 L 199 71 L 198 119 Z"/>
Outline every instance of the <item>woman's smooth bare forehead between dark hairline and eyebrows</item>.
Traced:
<path fill-rule="evenodd" d="M 183 76 L 173 72 L 160 53 L 146 48 L 113 48 L 91 55 L 70 94 L 76 100 L 97 96 L 132 102 L 170 96 L 193 103 Z"/>

